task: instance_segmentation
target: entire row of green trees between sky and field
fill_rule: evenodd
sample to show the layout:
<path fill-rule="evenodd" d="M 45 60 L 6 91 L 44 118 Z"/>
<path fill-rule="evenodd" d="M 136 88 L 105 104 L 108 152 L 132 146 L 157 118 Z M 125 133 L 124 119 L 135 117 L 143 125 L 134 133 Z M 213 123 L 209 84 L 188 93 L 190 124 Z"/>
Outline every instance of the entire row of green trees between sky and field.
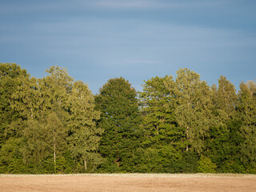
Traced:
<path fill-rule="evenodd" d="M 189 69 L 111 78 L 94 95 L 67 70 L 30 77 L 0 63 L 0 173 L 256 174 L 256 83 Z"/>

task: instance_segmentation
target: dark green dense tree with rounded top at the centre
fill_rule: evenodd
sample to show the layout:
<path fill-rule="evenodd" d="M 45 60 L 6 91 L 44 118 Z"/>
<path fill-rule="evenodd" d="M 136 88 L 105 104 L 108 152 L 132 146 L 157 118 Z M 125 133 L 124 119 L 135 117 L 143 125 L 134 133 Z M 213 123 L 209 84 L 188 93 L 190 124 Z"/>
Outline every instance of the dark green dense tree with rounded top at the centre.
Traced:
<path fill-rule="evenodd" d="M 102 86 L 95 102 L 102 112 L 98 128 L 104 130 L 99 147 L 106 158 L 103 169 L 132 171 L 130 158 L 141 135 L 136 91 L 124 78 L 112 78 Z"/>

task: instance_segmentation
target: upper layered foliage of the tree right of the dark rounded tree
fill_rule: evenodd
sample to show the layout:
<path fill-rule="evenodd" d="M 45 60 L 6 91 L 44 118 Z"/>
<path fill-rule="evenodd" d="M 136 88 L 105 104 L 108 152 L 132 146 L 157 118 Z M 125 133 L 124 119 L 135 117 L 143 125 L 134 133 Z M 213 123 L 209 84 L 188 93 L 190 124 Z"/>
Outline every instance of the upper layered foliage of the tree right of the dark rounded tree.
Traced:
<path fill-rule="evenodd" d="M 175 146 L 182 148 L 182 129 L 174 118 L 173 95 L 166 89 L 165 82 L 172 83 L 172 77 L 151 78 L 145 82 L 140 93 L 141 113 L 145 129 L 146 146 Z"/>

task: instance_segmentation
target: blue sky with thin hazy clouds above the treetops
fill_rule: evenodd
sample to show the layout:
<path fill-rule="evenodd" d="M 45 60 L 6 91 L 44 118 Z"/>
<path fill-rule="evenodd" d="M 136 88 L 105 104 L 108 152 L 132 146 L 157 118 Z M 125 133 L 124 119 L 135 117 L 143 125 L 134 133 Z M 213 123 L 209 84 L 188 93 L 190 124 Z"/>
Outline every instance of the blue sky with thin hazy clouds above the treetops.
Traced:
<path fill-rule="evenodd" d="M 142 90 L 184 67 L 239 90 L 256 78 L 256 1 L 0 0 L 0 62 L 36 78 L 66 67 L 94 94 L 110 78 Z"/>

